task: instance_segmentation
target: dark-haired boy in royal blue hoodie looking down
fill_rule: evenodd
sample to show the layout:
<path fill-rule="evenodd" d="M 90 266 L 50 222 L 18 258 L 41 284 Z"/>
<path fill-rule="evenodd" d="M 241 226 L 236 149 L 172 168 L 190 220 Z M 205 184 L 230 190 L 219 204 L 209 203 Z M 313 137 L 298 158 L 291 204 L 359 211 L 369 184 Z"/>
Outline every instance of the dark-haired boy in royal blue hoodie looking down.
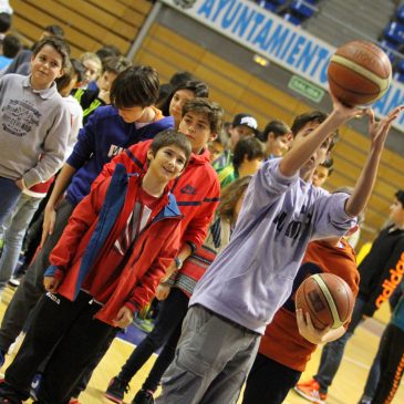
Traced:
<path fill-rule="evenodd" d="M 152 106 L 158 96 L 158 84 L 155 69 L 128 68 L 120 73 L 111 89 L 113 106 L 97 108 L 80 131 L 45 207 L 42 248 L 4 313 L 0 329 L 0 364 L 43 293 L 42 278 L 49 267 L 50 251 L 104 164 L 125 147 L 174 126 L 172 117 L 163 117 L 160 111 Z"/>

